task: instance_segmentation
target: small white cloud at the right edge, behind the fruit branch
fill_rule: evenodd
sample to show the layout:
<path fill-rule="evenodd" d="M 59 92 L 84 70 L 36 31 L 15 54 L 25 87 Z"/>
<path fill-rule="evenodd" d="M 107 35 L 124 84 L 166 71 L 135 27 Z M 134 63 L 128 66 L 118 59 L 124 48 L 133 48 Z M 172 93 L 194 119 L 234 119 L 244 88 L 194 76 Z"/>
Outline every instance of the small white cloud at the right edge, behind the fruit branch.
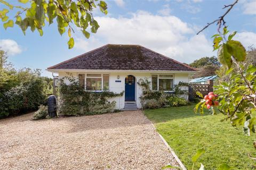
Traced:
<path fill-rule="evenodd" d="M 254 32 L 239 32 L 234 37 L 235 40 L 241 41 L 245 48 L 253 45 L 256 47 L 256 33 Z"/>

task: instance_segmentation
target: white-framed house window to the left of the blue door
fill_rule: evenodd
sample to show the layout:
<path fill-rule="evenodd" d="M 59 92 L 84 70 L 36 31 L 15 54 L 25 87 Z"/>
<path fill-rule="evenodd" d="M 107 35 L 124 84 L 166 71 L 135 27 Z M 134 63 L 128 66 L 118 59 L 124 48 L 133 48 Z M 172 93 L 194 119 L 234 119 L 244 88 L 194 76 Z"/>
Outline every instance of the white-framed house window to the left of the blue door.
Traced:
<path fill-rule="evenodd" d="M 78 74 L 78 81 L 86 90 L 109 90 L 109 74 Z"/>

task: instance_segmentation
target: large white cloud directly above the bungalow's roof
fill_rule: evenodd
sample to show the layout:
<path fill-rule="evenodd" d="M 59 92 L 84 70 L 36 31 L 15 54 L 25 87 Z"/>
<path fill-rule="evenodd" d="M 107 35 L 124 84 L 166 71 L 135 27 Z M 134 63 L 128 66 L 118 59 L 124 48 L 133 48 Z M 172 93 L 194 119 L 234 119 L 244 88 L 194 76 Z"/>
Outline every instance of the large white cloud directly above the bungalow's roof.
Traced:
<path fill-rule="evenodd" d="M 75 48 L 83 52 L 105 44 L 139 44 L 180 62 L 190 63 L 212 56 L 212 43 L 203 34 L 176 16 L 160 16 L 139 11 L 131 18 L 95 18 L 100 28 L 90 39 L 75 39 Z M 77 41 L 78 40 L 78 41 Z"/>

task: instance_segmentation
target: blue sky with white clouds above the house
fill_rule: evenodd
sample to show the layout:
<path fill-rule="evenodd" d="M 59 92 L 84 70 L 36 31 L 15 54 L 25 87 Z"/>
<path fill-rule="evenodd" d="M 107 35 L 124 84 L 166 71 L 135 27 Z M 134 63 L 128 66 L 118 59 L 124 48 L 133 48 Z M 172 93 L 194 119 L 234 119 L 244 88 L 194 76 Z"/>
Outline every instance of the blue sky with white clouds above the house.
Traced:
<path fill-rule="evenodd" d="M 16 2 L 16 1 L 10 1 Z M 67 33 L 59 35 L 56 24 L 44 27 L 43 37 L 29 29 L 26 36 L 20 28 L 4 30 L 0 27 L 0 47 L 8 50 L 9 60 L 17 68 L 45 69 L 71 57 L 105 44 L 140 44 L 175 60 L 191 63 L 212 52 L 211 36 L 217 26 L 211 25 L 203 33 L 196 32 L 222 15 L 223 5 L 233 1 L 210 0 L 108 0 L 108 14 L 94 11 L 100 28 L 90 39 L 75 29 L 75 47 L 68 49 Z M 4 8 L 0 5 L 0 8 Z M 14 16 L 14 12 L 10 16 Z M 256 0 L 240 0 L 226 18 L 229 29 L 237 30 L 235 39 L 245 47 L 256 47 Z"/>

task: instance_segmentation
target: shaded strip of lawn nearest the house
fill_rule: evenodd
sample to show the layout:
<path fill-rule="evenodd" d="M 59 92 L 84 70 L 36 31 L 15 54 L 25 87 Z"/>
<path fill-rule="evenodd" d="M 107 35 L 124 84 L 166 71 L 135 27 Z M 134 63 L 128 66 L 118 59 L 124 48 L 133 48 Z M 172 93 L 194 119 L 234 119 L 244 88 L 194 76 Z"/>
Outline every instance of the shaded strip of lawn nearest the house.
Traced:
<path fill-rule="evenodd" d="M 194 105 L 190 106 L 180 106 L 180 107 L 166 107 L 159 109 L 147 109 L 145 111 L 146 116 L 149 120 L 154 123 L 167 122 L 171 120 L 176 120 L 180 118 L 188 117 L 202 117 L 209 116 L 209 112 L 205 110 L 204 114 L 194 113 Z"/>

